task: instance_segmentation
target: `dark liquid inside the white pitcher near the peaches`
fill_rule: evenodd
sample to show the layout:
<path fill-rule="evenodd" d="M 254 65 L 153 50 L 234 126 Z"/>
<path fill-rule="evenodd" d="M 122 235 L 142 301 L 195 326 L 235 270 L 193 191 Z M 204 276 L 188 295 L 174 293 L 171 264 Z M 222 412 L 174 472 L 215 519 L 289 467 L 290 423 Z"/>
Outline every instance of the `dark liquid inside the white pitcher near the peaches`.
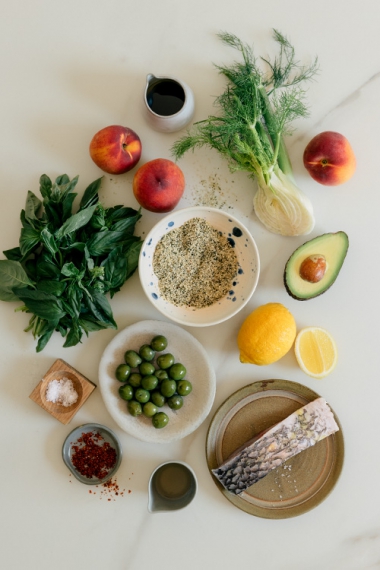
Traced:
<path fill-rule="evenodd" d="M 146 100 L 156 115 L 168 117 L 182 109 L 185 103 L 185 92 L 173 79 L 157 79 L 150 83 Z"/>

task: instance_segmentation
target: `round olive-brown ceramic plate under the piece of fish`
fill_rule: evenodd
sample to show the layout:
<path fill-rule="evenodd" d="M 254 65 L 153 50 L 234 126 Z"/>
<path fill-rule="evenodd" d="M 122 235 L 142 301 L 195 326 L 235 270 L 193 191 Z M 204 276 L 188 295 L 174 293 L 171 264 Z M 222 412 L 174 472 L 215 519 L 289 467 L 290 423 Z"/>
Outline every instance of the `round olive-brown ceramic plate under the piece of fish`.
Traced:
<path fill-rule="evenodd" d="M 208 467 L 215 469 L 246 441 L 319 398 L 306 386 L 288 380 L 265 380 L 232 394 L 215 413 L 207 434 Z M 255 485 L 234 495 L 212 478 L 236 507 L 258 517 L 283 519 L 301 515 L 321 503 L 333 489 L 343 465 L 342 428 L 292 457 Z"/>

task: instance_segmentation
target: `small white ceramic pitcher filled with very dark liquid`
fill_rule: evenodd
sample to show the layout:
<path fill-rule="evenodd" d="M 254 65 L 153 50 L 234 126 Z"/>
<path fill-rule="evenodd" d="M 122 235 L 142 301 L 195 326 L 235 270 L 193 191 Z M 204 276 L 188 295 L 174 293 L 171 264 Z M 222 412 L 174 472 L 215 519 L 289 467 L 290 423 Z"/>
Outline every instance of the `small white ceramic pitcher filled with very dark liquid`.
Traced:
<path fill-rule="evenodd" d="M 179 131 L 193 118 L 194 95 L 186 83 L 175 77 L 156 77 L 149 73 L 144 108 L 148 123 L 156 131 Z"/>

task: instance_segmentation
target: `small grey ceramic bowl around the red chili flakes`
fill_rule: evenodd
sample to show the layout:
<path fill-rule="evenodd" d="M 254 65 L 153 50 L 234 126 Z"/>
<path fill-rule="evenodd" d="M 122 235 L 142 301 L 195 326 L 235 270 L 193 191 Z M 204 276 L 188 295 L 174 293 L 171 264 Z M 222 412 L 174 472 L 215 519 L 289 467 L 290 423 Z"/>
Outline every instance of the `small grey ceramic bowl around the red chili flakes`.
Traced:
<path fill-rule="evenodd" d="M 102 436 L 104 442 L 108 442 L 111 445 L 111 447 L 113 447 L 116 450 L 116 463 L 113 466 L 113 468 L 110 471 L 108 471 L 107 475 L 102 479 L 98 479 L 97 477 L 88 478 L 83 476 L 81 473 L 79 473 L 79 471 L 76 470 L 76 468 L 72 463 L 73 445 L 77 443 L 78 438 L 80 438 L 83 433 L 89 433 L 89 432 L 99 433 Z M 69 468 L 71 473 L 74 475 L 74 477 L 76 477 L 76 479 L 78 479 L 78 481 L 84 483 L 85 485 L 101 485 L 102 483 L 105 483 L 106 481 L 111 479 L 116 474 L 116 471 L 120 467 L 121 458 L 122 458 L 122 448 L 118 437 L 114 434 L 112 430 L 101 424 L 90 423 L 76 427 L 66 437 L 62 447 L 62 459 L 66 467 Z"/>

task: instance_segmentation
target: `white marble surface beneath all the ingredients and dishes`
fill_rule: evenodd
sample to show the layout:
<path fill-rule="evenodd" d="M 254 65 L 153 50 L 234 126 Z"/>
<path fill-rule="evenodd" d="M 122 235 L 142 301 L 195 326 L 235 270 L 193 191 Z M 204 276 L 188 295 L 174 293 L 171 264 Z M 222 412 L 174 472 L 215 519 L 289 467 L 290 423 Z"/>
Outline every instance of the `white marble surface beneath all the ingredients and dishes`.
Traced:
<path fill-rule="evenodd" d="M 380 564 L 380 319 L 378 283 L 380 193 L 380 8 L 376 0 L 14 0 L 2 1 L 0 19 L 0 232 L 1 250 L 14 247 L 19 213 L 28 189 L 38 191 L 42 173 L 80 175 L 80 188 L 100 174 L 88 155 L 93 134 L 109 124 L 136 130 L 144 145 L 142 162 L 170 158 L 177 135 L 150 129 L 141 111 L 145 75 L 170 74 L 194 90 L 195 120 L 213 110 L 223 80 L 212 62 L 234 54 L 215 34 L 227 30 L 254 42 L 259 54 L 273 53 L 271 28 L 296 46 L 298 57 L 318 55 L 320 73 L 308 90 L 310 116 L 288 140 L 299 186 L 316 215 L 312 237 L 344 230 L 347 260 L 334 287 L 310 302 L 292 300 L 282 285 L 285 261 L 303 238 L 268 233 L 252 212 L 254 188 L 232 175 L 211 151 L 181 162 L 187 190 L 180 206 L 210 199 L 231 211 L 254 235 L 261 254 L 257 291 L 242 313 L 209 329 L 189 329 L 207 349 L 217 375 L 211 412 L 236 389 L 260 379 L 285 378 L 323 395 L 343 425 L 346 455 L 333 493 L 314 510 L 271 521 L 233 507 L 216 488 L 206 465 L 205 437 L 211 415 L 185 439 L 168 445 L 140 442 L 113 422 L 97 389 L 64 426 L 29 398 L 56 358 L 64 358 L 97 382 L 104 348 L 115 331 L 94 333 L 82 345 L 62 348 L 55 336 L 41 354 L 27 318 L 15 304 L 0 303 L 1 332 L 1 566 L 7 570 L 183 570 L 266 568 L 268 570 L 371 570 Z M 306 143 L 323 130 L 336 130 L 352 143 L 358 168 L 346 184 L 328 188 L 312 181 L 302 166 Z M 133 172 L 104 176 L 106 205 L 136 205 Z M 215 205 L 215 204 L 214 204 Z M 149 231 L 159 219 L 145 214 Z M 299 328 L 319 325 L 339 348 L 336 370 L 322 381 L 309 378 L 289 353 L 278 363 L 255 368 L 239 363 L 236 334 L 257 305 L 284 303 Z M 112 300 L 119 329 L 143 319 L 162 318 L 145 298 L 138 276 Z M 124 459 L 118 473 L 123 497 L 101 498 L 70 482 L 61 446 L 80 423 L 114 429 Z M 147 485 L 155 466 L 187 461 L 199 492 L 185 510 L 151 515 Z M 131 491 L 129 493 L 129 490 Z"/>

